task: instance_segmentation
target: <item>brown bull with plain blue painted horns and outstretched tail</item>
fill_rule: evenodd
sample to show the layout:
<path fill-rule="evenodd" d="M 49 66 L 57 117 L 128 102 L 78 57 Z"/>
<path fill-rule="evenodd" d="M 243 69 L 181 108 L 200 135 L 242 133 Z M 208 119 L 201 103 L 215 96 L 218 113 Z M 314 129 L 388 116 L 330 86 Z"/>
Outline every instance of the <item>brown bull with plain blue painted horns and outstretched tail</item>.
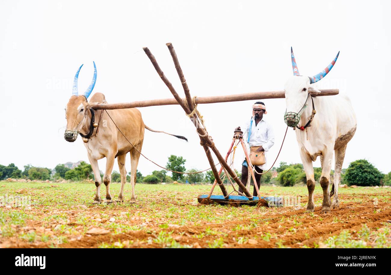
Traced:
<path fill-rule="evenodd" d="M 92 89 L 95 86 L 97 76 L 95 62 L 94 77 L 90 87 L 88 87 L 84 95 L 78 95 L 77 91 L 77 79 L 79 76 L 80 69 L 81 66 L 75 75 L 72 93 L 73 95 L 69 99 L 69 102 L 66 105 L 65 109 L 67 120 L 66 131 L 64 134 L 65 140 L 73 142 L 76 140 L 78 134 L 83 137 L 84 146 L 87 149 L 88 159 L 90 160 L 92 170 L 95 176 L 95 186 L 97 187 L 97 193 L 94 199 L 95 204 L 99 204 L 102 202 L 100 198 L 100 184 L 102 183 L 102 179 L 100 177 L 98 159 L 106 157 L 107 160 L 106 170 L 103 176 L 103 183 L 106 186 L 105 202 L 111 203 L 111 172 L 113 171 L 114 159 L 117 157 L 118 167 L 121 174 L 121 189 L 118 195 L 117 202 L 123 202 L 123 192 L 126 183 L 125 158 L 126 154 L 130 152 L 132 185 L 132 197 L 130 201 L 136 202 L 136 169 L 138 159 L 140 157 L 139 152 L 141 152 L 143 145 L 144 129 L 146 128 L 148 130 L 151 130 L 152 132 L 161 131 L 152 130 L 146 125 L 144 125 L 140 111 L 135 108 L 108 110 L 107 112 L 104 110 L 91 109 L 89 107 L 87 98 L 91 94 Z M 90 99 L 90 103 L 91 102 L 106 103 L 105 96 L 102 93 L 95 93 Z M 118 128 L 116 127 L 116 125 Z M 172 136 L 187 140 L 185 137 L 182 136 Z M 129 143 L 128 140 L 133 146 Z"/>

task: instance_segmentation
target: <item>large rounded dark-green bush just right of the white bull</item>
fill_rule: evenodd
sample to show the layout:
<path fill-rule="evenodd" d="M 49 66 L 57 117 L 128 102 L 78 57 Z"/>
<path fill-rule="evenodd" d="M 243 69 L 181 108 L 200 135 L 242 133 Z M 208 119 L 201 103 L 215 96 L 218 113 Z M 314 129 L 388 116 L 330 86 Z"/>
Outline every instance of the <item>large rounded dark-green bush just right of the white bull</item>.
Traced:
<path fill-rule="evenodd" d="M 349 164 L 344 176 L 348 185 L 375 186 L 380 185 L 383 174 L 366 159 L 359 159 Z"/>

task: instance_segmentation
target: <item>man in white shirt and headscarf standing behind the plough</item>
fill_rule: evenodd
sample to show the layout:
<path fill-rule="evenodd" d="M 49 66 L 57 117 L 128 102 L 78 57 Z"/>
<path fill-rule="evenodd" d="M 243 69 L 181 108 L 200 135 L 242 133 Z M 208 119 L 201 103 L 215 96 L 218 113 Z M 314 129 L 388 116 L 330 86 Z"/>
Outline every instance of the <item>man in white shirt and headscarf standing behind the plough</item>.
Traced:
<path fill-rule="evenodd" d="M 255 102 L 253 104 L 253 116 L 251 116 L 251 120 L 246 121 L 242 125 L 242 127 L 237 127 L 235 130 L 243 131 L 243 137 L 246 135 L 245 142 L 248 143 L 248 154 L 250 154 L 250 147 L 259 146 L 256 149 L 256 152 L 267 152 L 274 145 L 274 131 L 271 124 L 264 119 L 264 114 L 267 114 L 265 104 L 263 102 Z M 265 161 L 267 160 L 265 154 Z M 267 162 L 262 165 L 254 165 L 256 172 L 262 173 L 263 170 L 267 167 Z M 258 173 L 255 174 L 256 184 L 258 188 L 261 184 L 261 175 Z M 248 173 L 248 164 L 247 161 L 244 160 L 242 163 L 242 183 L 246 186 L 248 177 L 251 177 Z M 243 190 L 239 187 L 239 192 L 243 193 Z M 256 189 L 254 186 L 253 196 L 257 196 Z"/>

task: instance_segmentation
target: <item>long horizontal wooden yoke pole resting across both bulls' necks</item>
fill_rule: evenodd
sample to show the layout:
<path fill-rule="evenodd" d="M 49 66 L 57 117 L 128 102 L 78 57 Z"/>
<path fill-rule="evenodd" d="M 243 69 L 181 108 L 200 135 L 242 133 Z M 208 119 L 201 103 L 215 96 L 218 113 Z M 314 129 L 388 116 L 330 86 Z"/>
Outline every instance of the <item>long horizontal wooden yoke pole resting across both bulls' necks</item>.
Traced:
<path fill-rule="evenodd" d="M 186 80 L 185 83 L 182 83 L 182 85 L 183 84 L 186 84 Z M 169 89 L 170 91 L 171 89 L 173 89 L 172 85 L 169 87 Z M 320 91 L 321 93 L 312 96 L 328 96 L 328 95 L 339 94 L 339 89 L 325 89 Z M 285 91 L 270 91 L 270 92 L 244 93 L 244 94 L 225 95 L 225 96 L 196 97 L 195 104 L 210 104 L 210 103 L 233 102 L 233 101 L 244 101 L 244 100 L 262 100 L 267 98 L 285 98 Z M 178 95 L 178 100 L 181 103 L 178 103 L 176 98 L 163 98 L 163 99 L 152 99 L 152 100 L 143 100 L 143 101 L 123 102 L 123 103 L 106 103 L 106 104 L 94 102 L 94 103 L 90 103 L 90 107 L 95 110 L 99 110 L 99 109 L 113 110 L 113 109 L 162 106 L 162 105 L 178 105 L 178 104 L 182 105 L 186 99 L 187 98 L 181 98 Z"/>

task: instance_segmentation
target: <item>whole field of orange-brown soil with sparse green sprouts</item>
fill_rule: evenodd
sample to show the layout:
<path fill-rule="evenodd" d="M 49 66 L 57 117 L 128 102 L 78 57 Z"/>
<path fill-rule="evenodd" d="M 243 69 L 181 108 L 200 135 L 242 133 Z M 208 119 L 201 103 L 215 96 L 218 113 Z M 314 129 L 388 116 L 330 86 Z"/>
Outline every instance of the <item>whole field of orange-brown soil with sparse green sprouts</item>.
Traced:
<path fill-rule="evenodd" d="M 256 208 L 198 204 L 197 195 L 207 193 L 210 186 L 143 184 L 136 185 L 136 204 L 93 205 L 94 186 L 68 185 L 24 184 L 22 189 L 33 197 L 31 209 L 0 207 L 0 247 L 391 247 L 391 188 L 342 189 L 339 209 L 321 214 L 319 186 L 315 211 L 308 213 L 305 187 L 262 186 L 265 195 L 296 195 L 301 201 Z M 8 192 L 18 187 L 6 186 Z M 117 189 L 119 184 L 112 184 L 113 200 Z M 15 218 L 12 211 L 22 218 Z M 98 232 L 91 233 L 91 229 Z"/>

